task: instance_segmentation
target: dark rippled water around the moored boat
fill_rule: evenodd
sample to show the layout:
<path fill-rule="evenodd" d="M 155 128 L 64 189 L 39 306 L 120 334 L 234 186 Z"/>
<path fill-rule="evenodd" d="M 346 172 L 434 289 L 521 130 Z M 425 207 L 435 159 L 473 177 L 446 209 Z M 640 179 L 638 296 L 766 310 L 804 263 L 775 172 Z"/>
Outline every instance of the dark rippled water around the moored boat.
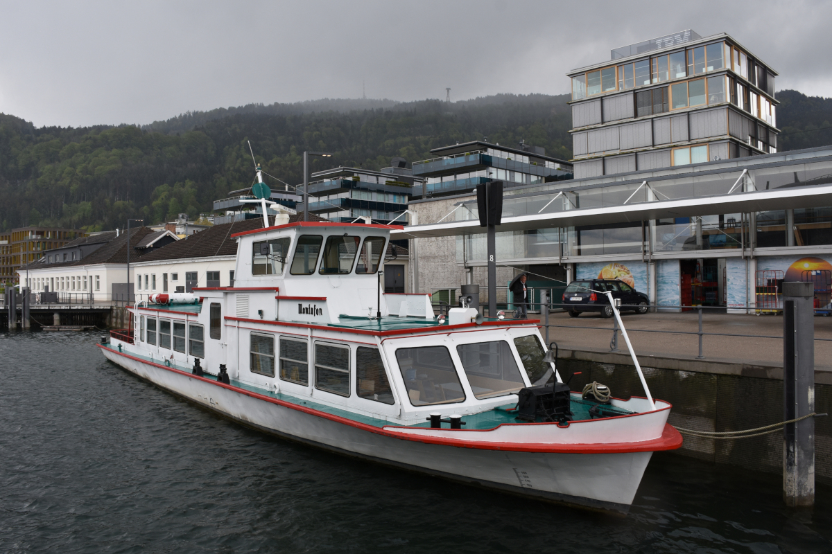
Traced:
<path fill-rule="evenodd" d="M 832 490 L 656 454 L 627 517 L 271 439 L 106 362 L 0 335 L 0 552 L 830 552 Z"/>

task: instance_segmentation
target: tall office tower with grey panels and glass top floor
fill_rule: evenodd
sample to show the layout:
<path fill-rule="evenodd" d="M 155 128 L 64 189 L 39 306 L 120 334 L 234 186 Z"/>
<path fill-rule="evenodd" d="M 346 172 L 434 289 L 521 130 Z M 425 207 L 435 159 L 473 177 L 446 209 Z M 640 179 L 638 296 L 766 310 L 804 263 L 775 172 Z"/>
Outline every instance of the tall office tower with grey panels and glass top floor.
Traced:
<path fill-rule="evenodd" d="M 576 179 L 777 151 L 777 72 L 726 33 L 653 38 L 568 76 Z"/>

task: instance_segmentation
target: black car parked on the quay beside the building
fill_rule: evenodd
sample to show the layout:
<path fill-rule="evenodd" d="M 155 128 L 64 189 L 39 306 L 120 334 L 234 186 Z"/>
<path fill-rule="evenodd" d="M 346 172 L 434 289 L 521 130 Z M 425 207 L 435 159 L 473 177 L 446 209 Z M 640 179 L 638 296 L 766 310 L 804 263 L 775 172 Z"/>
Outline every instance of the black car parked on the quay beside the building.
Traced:
<path fill-rule="evenodd" d="M 650 299 L 644 292 L 617 279 L 572 281 L 563 292 L 563 309 L 572 317 L 580 316 L 584 311 L 598 311 L 604 317 L 612 317 L 607 291 L 612 292 L 613 298 L 621 298 L 621 311 L 644 314 L 650 309 Z"/>

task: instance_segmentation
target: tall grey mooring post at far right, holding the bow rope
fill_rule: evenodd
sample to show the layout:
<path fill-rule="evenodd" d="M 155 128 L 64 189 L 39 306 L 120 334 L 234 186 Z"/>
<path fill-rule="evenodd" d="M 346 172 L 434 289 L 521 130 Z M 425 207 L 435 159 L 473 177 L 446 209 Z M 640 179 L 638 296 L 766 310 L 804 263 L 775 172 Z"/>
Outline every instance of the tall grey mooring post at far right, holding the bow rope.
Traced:
<path fill-rule="evenodd" d="M 815 287 L 783 283 L 783 419 L 815 411 Z M 783 429 L 783 498 L 787 506 L 815 503 L 815 419 Z"/>

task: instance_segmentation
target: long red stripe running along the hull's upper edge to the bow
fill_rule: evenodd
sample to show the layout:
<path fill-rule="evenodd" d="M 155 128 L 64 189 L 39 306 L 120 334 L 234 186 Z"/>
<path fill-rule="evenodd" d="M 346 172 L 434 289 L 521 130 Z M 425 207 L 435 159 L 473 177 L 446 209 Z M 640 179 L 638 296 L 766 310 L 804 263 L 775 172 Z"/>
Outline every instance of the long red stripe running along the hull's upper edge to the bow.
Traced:
<path fill-rule="evenodd" d="M 108 348 L 104 345 L 97 345 L 102 350 L 111 351 L 113 354 L 124 356 L 130 360 L 136 360 L 141 362 L 142 364 L 152 365 L 153 367 L 158 367 L 162 370 L 172 371 L 174 373 L 178 373 L 180 375 L 185 375 L 186 377 L 190 377 L 191 379 L 198 379 L 205 381 L 206 383 L 210 383 L 211 385 L 215 385 L 218 387 L 222 387 L 224 389 L 232 390 L 240 395 L 250 396 L 251 398 L 255 398 L 257 400 L 263 400 L 264 402 L 269 402 L 270 404 L 277 404 L 279 406 L 283 406 L 289 409 L 295 409 L 299 412 L 304 412 L 305 414 L 310 414 L 317 416 L 322 419 L 329 419 L 330 421 L 334 421 L 339 424 L 349 425 L 350 427 L 354 427 L 356 429 L 362 429 L 369 433 L 380 434 L 384 437 L 389 437 L 391 439 L 400 439 L 400 440 L 409 440 L 414 443 L 424 443 L 424 444 L 439 444 L 442 446 L 453 446 L 463 449 L 478 449 L 478 450 L 503 450 L 509 452 L 535 452 L 535 453 L 576 453 L 576 454 L 601 454 L 601 453 L 631 453 L 631 452 L 655 452 L 657 450 L 673 450 L 678 449 L 681 446 L 681 434 L 679 431 L 676 430 L 671 424 L 665 424 L 665 429 L 661 434 L 661 438 L 659 439 L 652 439 L 646 440 L 640 443 L 610 443 L 610 444 L 537 444 L 537 443 L 525 443 L 525 444 L 516 444 L 516 443 L 493 443 L 488 441 L 474 441 L 474 440 L 461 440 L 461 439 L 451 439 L 448 437 L 428 437 L 428 436 L 418 436 L 415 434 L 404 434 L 398 433 L 388 429 L 395 429 L 395 427 L 385 427 L 379 428 L 374 427 L 373 425 L 363 424 L 358 421 L 354 421 L 352 419 L 343 418 L 339 415 L 334 414 L 327 414 L 326 412 L 319 411 L 317 409 L 312 409 L 306 406 L 300 406 L 298 404 L 292 404 L 290 402 L 286 402 L 285 400 L 278 400 L 276 398 L 271 398 L 270 396 L 260 395 L 255 392 L 251 392 L 250 390 L 240 389 L 239 387 L 235 387 L 234 385 L 225 385 L 224 383 L 220 383 L 218 381 L 207 379 L 206 377 L 198 377 L 186 371 L 177 370 L 176 368 L 167 367 L 166 365 L 156 364 L 155 362 L 142 360 L 141 358 L 137 358 L 136 356 L 131 356 L 129 354 L 125 354 L 124 352 L 119 352 L 112 348 Z M 522 425 L 522 424 L 521 424 Z M 532 424 L 533 425 L 533 424 Z M 555 424 L 552 424 L 555 425 Z M 402 428 L 402 429 L 409 429 L 409 428 Z M 460 430 L 460 433 L 470 433 L 470 431 Z"/>

